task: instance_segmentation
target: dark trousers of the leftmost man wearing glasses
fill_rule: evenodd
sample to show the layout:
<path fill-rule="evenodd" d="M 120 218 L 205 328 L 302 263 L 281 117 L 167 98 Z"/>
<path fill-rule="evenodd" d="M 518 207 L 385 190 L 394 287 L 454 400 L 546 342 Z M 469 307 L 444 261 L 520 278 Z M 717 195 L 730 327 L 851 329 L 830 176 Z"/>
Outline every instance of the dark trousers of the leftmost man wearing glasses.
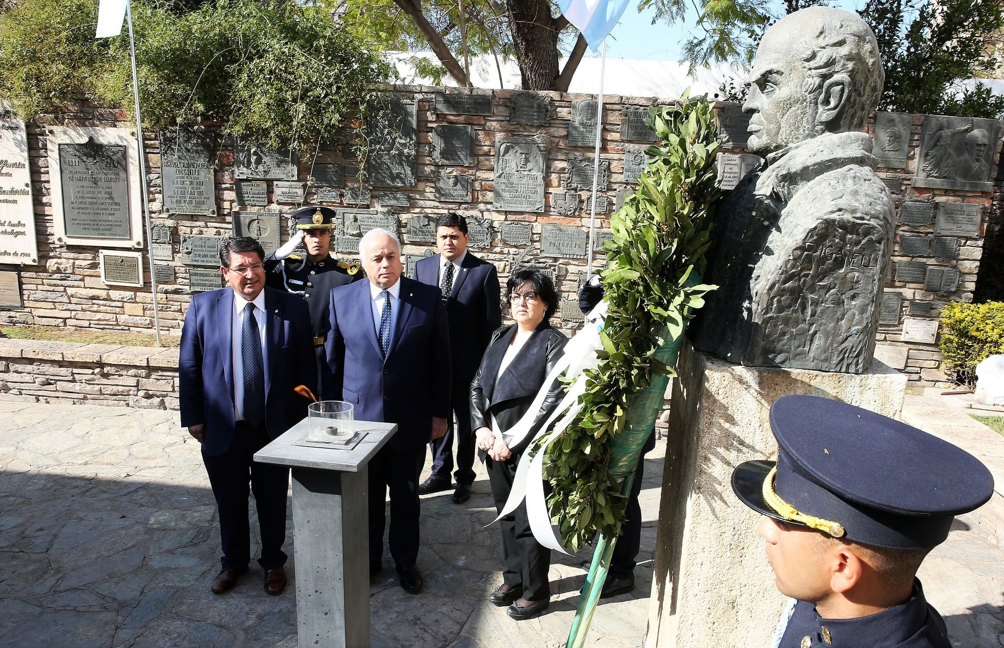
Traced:
<path fill-rule="evenodd" d="M 270 570 L 286 563 L 282 543 L 286 539 L 286 492 L 289 468 L 253 460 L 254 453 L 268 443 L 265 426 L 237 421 L 234 442 L 223 454 L 202 453 L 213 497 L 220 512 L 220 540 L 225 568 L 243 569 L 251 561 L 248 485 L 254 493 L 261 531 L 258 564 Z"/>

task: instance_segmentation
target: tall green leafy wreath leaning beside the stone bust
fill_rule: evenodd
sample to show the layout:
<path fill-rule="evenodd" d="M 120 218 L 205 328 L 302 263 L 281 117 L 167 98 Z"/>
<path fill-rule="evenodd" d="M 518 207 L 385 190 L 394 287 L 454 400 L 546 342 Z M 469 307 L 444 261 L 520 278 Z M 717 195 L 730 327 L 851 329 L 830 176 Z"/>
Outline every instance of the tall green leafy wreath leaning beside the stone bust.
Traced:
<path fill-rule="evenodd" d="M 656 350 L 683 333 L 714 286 L 694 285 L 711 245 L 718 199 L 718 124 L 706 96 L 649 109 L 661 144 L 639 187 L 610 219 L 607 266 L 600 271 L 608 302 L 600 363 L 587 370 L 582 410 L 548 447 L 550 513 L 564 544 L 578 551 L 599 532 L 616 536 L 626 504 L 608 470 L 609 442 L 624 429 L 631 396 L 658 374 L 676 375 Z"/>

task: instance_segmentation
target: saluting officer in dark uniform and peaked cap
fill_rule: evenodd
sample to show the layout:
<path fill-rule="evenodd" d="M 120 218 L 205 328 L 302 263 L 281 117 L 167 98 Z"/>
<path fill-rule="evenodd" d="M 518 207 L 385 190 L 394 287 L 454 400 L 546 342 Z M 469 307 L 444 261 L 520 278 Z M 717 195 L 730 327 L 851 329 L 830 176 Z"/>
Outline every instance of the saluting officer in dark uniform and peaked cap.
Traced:
<path fill-rule="evenodd" d="M 327 207 L 304 207 L 293 212 L 294 234 L 284 246 L 265 257 L 265 285 L 299 295 L 307 300 L 310 326 L 314 334 L 318 386 L 320 371 L 326 366 L 324 335 L 328 329 L 327 304 L 332 288 L 362 278 L 357 263 L 331 258 L 335 212 Z M 303 246 L 305 256 L 293 254 Z"/>

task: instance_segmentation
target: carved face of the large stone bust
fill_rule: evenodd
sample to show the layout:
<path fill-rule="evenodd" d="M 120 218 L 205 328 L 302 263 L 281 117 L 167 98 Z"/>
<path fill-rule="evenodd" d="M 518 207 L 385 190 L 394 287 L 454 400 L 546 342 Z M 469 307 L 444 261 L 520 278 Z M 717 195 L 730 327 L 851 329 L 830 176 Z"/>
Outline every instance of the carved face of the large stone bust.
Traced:
<path fill-rule="evenodd" d="M 817 96 L 804 89 L 805 68 L 791 34 L 770 29 L 757 48 L 743 110 L 753 114 L 748 147 L 768 153 L 816 135 Z"/>

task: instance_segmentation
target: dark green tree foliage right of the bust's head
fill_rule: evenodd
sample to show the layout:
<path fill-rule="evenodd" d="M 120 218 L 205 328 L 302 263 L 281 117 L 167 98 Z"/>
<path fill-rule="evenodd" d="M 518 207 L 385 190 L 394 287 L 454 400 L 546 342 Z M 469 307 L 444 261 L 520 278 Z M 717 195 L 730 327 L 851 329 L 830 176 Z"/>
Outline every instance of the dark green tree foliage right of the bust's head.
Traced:
<path fill-rule="evenodd" d="M 858 13 L 878 40 L 886 69 L 878 110 L 989 118 L 1004 112 L 987 88 L 955 92 L 959 81 L 993 69 L 987 53 L 1004 27 L 1001 3 L 868 0 Z"/>

